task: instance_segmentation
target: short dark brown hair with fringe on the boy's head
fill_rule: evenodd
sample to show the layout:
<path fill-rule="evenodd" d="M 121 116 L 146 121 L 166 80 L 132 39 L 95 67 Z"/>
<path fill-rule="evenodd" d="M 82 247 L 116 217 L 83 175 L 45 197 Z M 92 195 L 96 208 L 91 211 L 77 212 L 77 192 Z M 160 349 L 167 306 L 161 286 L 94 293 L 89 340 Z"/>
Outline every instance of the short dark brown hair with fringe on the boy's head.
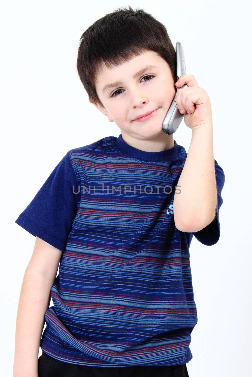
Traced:
<path fill-rule="evenodd" d="M 167 61 L 176 83 L 175 49 L 165 26 L 151 14 L 129 6 L 95 21 L 80 37 L 77 57 L 77 71 L 89 100 L 104 107 L 95 88 L 102 61 L 110 69 L 145 51 L 155 51 Z"/>

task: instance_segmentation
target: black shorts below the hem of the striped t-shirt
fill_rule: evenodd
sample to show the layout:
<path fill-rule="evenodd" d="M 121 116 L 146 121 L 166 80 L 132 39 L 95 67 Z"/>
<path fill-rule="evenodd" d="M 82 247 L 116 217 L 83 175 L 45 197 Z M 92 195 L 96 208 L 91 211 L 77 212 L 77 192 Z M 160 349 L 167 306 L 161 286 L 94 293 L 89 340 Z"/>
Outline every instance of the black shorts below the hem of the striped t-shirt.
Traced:
<path fill-rule="evenodd" d="M 65 363 L 43 352 L 38 377 L 189 377 L 186 364 L 169 366 L 100 367 Z"/>

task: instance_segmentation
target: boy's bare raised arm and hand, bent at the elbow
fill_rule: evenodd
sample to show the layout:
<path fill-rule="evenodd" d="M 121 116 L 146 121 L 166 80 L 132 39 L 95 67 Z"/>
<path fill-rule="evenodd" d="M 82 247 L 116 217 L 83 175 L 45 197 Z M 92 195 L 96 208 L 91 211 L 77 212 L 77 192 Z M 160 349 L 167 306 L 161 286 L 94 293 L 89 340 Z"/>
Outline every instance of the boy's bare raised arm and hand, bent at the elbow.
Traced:
<path fill-rule="evenodd" d="M 181 192 L 174 195 L 173 215 L 178 230 L 197 232 L 216 215 L 212 110 L 206 90 L 198 86 L 193 75 L 181 76 L 176 82 L 178 88 L 184 84 L 188 88 L 178 90 L 176 102 L 192 129 L 192 140 L 177 184 Z"/>

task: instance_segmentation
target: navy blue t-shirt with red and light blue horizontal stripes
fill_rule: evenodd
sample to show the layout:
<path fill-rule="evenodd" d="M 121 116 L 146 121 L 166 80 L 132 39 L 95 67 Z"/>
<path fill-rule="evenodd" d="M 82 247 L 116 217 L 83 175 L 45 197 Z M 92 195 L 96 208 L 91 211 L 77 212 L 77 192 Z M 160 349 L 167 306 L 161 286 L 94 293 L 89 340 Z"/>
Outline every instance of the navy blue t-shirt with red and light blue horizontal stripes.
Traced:
<path fill-rule="evenodd" d="M 181 365 L 197 323 L 189 247 L 220 237 L 216 217 L 196 233 L 175 227 L 186 150 L 144 152 L 108 136 L 66 153 L 15 221 L 63 251 L 40 346 L 87 366 Z M 176 194 L 177 195 L 177 194 Z"/>

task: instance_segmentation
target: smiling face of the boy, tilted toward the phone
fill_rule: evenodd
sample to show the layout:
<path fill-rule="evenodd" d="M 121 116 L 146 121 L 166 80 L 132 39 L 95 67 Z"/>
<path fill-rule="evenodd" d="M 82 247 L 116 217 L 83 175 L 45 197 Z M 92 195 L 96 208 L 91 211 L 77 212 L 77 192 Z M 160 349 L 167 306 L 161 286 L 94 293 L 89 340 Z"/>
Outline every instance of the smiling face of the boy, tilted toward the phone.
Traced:
<path fill-rule="evenodd" d="M 146 66 L 142 73 L 134 77 Z M 147 77 L 146 77 L 147 76 Z M 107 84 L 116 83 L 104 90 Z M 167 62 L 156 52 L 147 51 L 118 67 L 108 69 L 105 64 L 96 78 L 96 92 L 104 105 L 96 105 L 110 122 L 121 129 L 124 139 L 167 140 L 162 123 L 176 93 L 173 75 Z M 158 111 L 148 120 L 134 121 L 140 115 Z M 173 137 L 170 136 L 173 140 Z"/>

